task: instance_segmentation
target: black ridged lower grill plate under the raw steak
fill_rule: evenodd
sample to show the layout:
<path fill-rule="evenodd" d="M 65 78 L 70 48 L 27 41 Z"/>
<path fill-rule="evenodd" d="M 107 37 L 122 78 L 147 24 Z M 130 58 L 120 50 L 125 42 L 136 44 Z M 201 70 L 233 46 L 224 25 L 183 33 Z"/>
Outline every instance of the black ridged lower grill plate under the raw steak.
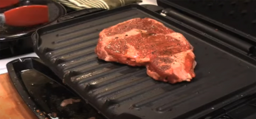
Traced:
<path fill-rule="evenodd" d="M 141 119 L 185 119 L 200 111 L 214 111 L 215 105 L 225 105 L 224 101 L 245 89 L 255 88 L 255 66 L 144 9 L 124 7 L 42 28 L 37 31 L 35 52 L 68 86 L 111 119 L 123 113 Z M 189 40 L 198 63 L 192 82 L 157 82 L 143 67 L 98 60 L 94 48 L 99 32 L 137 17 L 154 18 Z"/>

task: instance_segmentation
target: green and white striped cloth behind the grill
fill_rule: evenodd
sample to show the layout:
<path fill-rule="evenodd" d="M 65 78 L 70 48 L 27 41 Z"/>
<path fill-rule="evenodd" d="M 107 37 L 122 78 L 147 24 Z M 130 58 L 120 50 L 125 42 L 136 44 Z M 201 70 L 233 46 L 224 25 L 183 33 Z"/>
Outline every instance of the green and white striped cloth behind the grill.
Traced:
<path fill-rule="evenodd" d="M 103 8 L 110 10 L 131 3 L 139 3 L 142 0 L 54 0 L 74 10 L 85 8 Z"/>

